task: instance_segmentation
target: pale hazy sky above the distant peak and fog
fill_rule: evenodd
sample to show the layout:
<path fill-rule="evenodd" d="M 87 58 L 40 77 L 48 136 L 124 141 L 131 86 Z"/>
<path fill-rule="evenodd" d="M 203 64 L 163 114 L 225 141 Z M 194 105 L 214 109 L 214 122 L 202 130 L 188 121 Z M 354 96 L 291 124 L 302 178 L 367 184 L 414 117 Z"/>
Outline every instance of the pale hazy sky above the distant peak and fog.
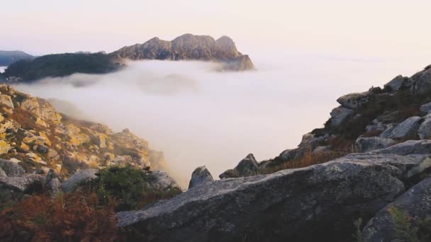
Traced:
<path fill-rule="evenodd" d="M 228 35 L 240 51 L 332 57 L 431 54 L 431 1 L 13 0 L 1 3 L 0 50 L 111 52 L 158 36 Z"/>

